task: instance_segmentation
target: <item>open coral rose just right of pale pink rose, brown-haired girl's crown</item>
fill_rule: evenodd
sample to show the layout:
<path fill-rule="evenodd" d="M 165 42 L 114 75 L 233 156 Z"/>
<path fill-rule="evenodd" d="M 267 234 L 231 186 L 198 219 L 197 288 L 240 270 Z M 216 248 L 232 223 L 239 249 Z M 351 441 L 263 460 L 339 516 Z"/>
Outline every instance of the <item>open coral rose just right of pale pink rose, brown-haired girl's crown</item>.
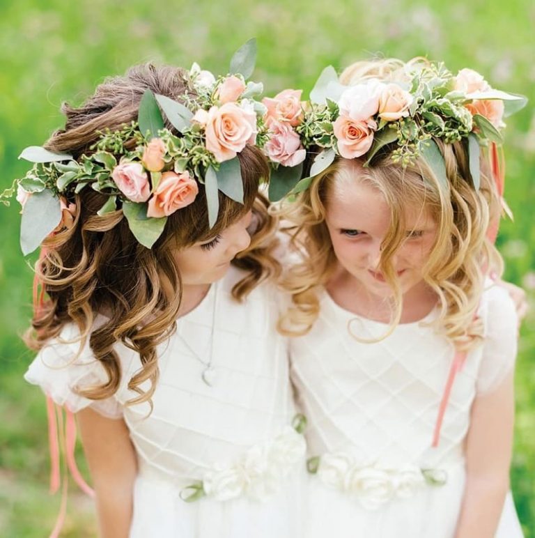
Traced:
<path fill-rule="evenodd" d="M 198 193 L 199 186 L 188 171 L 180 175 L 164 172 L 153 197 L 148 201 L 147 217 L 168 217 L 177 209 L 189 206 Z"/>

